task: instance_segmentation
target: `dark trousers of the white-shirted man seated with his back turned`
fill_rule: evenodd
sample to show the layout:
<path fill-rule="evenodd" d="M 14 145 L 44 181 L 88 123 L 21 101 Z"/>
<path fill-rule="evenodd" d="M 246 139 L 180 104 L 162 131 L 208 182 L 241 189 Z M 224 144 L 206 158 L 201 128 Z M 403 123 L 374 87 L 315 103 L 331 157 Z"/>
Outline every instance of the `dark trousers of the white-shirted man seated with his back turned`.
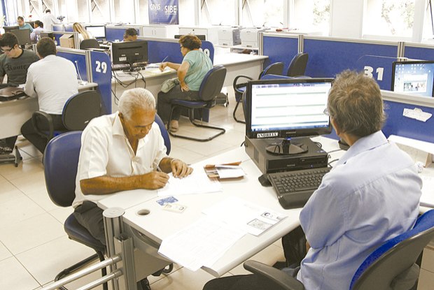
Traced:
<path fill-rule="evenodd" d="M 55 131 L 66 131 L 65 126 L 62 122 L 62 115 L 53 115 L 52 123 L 54 125 Z M 48 124 L 46 122 L 40 122 L 37 124 L 40 130 L 48 130 Z M 33 144 L 41 153 L 45 150 L 48 143 L 48 138 L 39 135 L 36 128 L 31 123 L 31 119 L 28 119 L 21 127 L 22 136 L 24 136 L 31 144 Z"/>

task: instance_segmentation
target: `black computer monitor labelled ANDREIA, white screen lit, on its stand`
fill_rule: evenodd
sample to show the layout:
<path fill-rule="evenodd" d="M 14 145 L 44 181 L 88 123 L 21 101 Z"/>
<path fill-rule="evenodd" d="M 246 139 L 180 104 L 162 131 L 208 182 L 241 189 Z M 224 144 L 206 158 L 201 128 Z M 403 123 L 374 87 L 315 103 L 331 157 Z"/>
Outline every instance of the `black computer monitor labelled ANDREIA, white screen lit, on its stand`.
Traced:
<path fill-rule="evenodd" d="M 325 113 L 332 78 L 285 78 L 248 82 L 246 136 L 277 139 L 267 147 L 272 154 L 300 154 L 308 148 L 302 138 L 329 134 Z M 283 138 L 283 140 L 281 140 Z"/>

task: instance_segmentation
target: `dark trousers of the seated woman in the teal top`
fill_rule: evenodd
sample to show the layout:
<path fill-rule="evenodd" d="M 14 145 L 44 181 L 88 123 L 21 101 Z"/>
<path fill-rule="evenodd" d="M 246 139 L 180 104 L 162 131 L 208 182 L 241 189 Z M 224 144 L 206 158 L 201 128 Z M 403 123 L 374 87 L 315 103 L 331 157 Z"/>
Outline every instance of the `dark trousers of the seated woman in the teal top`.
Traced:
<path fill-rule="evenodd" d="M 172 110 L 172 100 L 187 100 L 187 101 L 195 101 L 199 100 L 199 92 L 198 91 L 188 91 L 182 92 L 181 87 L 176 85 L 173 89 L 171 89 L 167 93 L 159 92 L 158 93 L 158 102 L 157 102 L 157 113 L 162 119 L 162 122 L 167 124 L 169 122 L 170 111 Z M 174 113 L 172 114 L 172 119 L 179 120 L 181 117 L 181 108 L 176 108 Z"/>

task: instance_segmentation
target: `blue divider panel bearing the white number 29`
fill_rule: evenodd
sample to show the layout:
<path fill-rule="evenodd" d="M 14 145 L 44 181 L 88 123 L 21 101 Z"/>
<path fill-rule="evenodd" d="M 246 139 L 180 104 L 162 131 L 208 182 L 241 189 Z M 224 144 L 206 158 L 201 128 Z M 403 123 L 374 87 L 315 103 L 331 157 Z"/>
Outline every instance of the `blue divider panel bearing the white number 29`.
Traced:
<path fill-rule="evenodd" d="M 92 82 L 98 84 L 102 98 L 102 113 L 111 114 L 111 61 L 105 52 L 90 52 Z"/>

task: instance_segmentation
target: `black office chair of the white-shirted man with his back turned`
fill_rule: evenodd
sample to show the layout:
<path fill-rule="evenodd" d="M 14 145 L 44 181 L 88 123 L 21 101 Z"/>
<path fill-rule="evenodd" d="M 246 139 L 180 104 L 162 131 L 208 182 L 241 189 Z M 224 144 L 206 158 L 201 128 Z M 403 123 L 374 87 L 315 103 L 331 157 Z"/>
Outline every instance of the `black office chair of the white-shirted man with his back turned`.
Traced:
<path fill-rule="evenodd" d="M 97 91 L 83 91 L 71 96 L 66 101 L 62 111 L 62 121 L 66 131 L 83 131 L 94 117 L 102 114 L 101 95 Z M 36 111 L 31 115 L 31 122 L 37 133 L 48 141 L 54 136 L 66 131 L 55 131 L 52 117 L 42 111 Z M 41 124 L 48 124 L 48 131 L 39 129 Z"/>

